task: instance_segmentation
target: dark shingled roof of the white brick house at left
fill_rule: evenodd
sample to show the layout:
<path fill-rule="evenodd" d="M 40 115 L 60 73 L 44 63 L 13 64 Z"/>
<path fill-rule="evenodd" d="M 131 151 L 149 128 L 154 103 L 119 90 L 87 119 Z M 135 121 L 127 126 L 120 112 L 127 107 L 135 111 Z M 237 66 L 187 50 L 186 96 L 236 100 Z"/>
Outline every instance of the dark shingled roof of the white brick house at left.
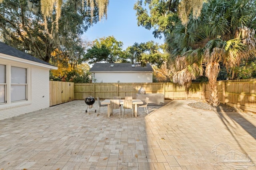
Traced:
<path fill-rule="evenodd" d="M 41 63 L 41 64 L 47 64 L 47 65 L 53 66 L 52 64 L 49 64 L 45 61 L 42 61 L 42 60 L 40 60 L 36 57 L 33 57 L 32 55 L 24 53 L 24 52 L 22 52 L 18 49 L 10 47 L 9 45 L 6 45 L 2 42 L 0 42 L 0 53 L 6 54 L 6 55 L 11 55 L 11 56 L 18 57 L 18 58 L 21 58 L 21 59 L 34 61 L 34 62 Z"/>

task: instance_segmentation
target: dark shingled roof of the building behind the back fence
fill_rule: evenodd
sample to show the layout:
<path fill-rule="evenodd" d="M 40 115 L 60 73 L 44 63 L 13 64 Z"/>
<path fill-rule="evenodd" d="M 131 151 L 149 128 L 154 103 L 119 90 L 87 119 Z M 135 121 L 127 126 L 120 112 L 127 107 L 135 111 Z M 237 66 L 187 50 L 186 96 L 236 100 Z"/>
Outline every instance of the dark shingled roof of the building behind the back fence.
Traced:
<path fill-rule="evenodd" d="M 110 65 L 113 64 L 114 67 Z M 95 63 L 90 72 L 109 72 L 109 71 L 127 71 L 127 72 L 153 72 L 152 67 L 150 64 L 146 64 L 145 67 L 142 67 L 141 64 L 135 63 L 135 67 L 132 67 L 131 63 Z"/>

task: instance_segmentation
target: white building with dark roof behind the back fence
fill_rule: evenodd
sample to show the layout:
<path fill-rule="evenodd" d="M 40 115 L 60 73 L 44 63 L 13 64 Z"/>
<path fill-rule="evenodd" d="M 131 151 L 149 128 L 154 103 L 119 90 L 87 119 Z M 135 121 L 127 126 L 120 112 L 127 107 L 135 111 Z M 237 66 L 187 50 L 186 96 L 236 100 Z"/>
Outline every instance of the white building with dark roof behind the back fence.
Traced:
<path fill-rule="evenodd" d="M 141 83 L 153 82 L 153 68 L 139 63 L 95 63 L 90 69 L 92 82 L 96 83 Z"/>

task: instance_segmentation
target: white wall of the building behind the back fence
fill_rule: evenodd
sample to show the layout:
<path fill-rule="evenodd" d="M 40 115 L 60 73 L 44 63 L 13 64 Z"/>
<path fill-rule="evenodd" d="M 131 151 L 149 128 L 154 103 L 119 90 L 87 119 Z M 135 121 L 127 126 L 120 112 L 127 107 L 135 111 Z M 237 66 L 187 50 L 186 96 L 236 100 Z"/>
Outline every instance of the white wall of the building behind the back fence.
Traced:
<path fill-rule="evenodd" d="M 153 82 L 152 72 L 92 72 L 93 82 L 103 83 L 140 83 Z"/>

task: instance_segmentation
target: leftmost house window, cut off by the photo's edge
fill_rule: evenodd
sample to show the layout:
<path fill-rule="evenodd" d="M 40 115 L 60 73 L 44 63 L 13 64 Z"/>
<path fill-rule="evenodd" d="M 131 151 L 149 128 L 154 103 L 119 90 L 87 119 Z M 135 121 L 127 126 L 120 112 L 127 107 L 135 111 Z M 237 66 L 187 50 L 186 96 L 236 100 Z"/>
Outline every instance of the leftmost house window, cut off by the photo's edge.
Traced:
<path fill-rule="evenodd" d="M 0 64 L 0 104 L 6 103 L 6 65 Z"/>

